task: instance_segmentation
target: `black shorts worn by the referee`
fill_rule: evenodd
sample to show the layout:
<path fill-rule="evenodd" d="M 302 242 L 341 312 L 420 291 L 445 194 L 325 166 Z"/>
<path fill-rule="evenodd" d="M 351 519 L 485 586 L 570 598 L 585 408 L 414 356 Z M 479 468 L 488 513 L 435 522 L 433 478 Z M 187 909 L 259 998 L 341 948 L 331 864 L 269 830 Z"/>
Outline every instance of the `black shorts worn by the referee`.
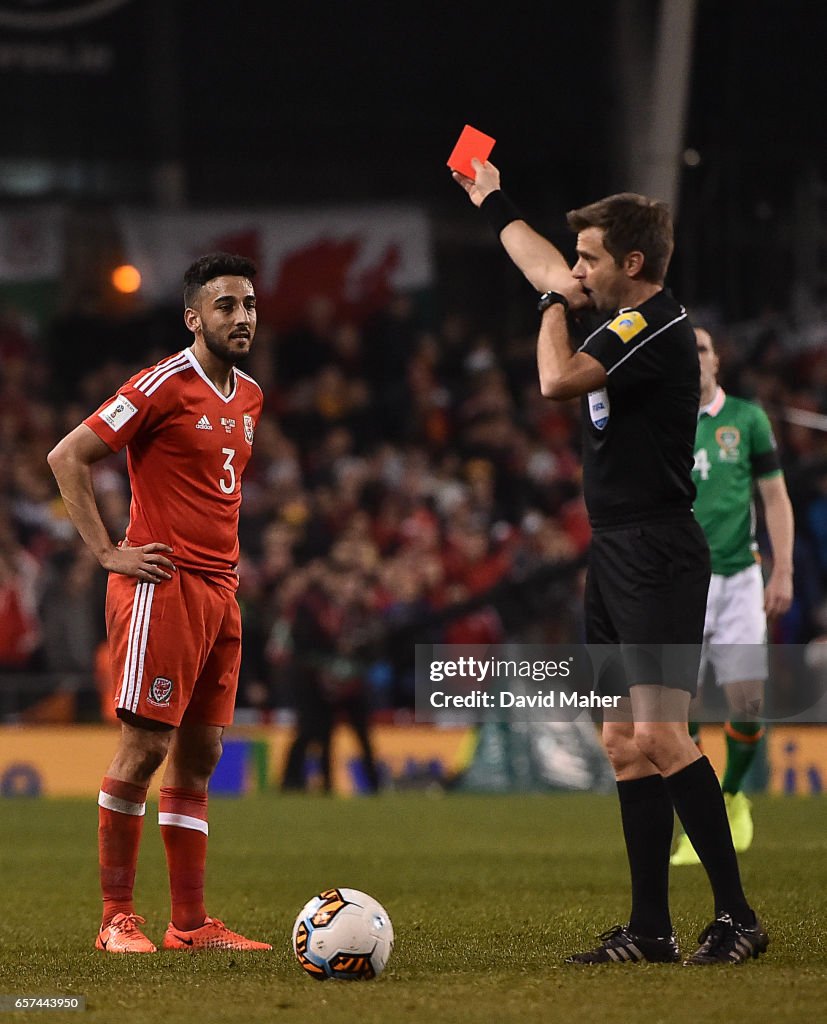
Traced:
<path fill-rule="evenodd" d="M 625 695 L 630 685 L 647 684 L 694 696 L 709 571 L 709 548 L 692 513 L 593 530 L 585 639 L 600 645 L 602 692 Z M 608 656 L 608 645 L 619 645 L 619 658 Z"/>

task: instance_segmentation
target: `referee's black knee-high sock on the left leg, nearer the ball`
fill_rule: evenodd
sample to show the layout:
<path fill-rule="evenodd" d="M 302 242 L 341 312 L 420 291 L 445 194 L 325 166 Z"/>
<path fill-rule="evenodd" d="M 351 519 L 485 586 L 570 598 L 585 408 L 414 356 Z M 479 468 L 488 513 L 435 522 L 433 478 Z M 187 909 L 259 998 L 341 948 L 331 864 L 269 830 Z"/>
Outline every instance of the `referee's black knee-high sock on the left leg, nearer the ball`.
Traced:
<path fill-rule="evenodd" d="M 669 852 L 674 813 L 662 775 L 617 783 L 632 873 L 628 930 L 646 938 L 671 935 Z"/>

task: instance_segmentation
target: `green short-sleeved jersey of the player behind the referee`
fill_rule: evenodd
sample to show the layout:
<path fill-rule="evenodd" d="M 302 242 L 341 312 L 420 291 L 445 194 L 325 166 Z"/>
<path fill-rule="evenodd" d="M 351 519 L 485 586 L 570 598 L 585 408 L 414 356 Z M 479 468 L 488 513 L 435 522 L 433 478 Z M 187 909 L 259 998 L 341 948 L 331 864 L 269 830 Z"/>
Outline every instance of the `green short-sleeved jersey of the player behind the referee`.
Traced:
<path fill-rule="evenodd" d="M 715 574 L 733 575 L 760 560 L 753 480 L 780 473 L 773 428 L 759 406 L 725 395 L 716 414 L 701 414 L 692 470 L 698 489 L 694 508 Z"/>

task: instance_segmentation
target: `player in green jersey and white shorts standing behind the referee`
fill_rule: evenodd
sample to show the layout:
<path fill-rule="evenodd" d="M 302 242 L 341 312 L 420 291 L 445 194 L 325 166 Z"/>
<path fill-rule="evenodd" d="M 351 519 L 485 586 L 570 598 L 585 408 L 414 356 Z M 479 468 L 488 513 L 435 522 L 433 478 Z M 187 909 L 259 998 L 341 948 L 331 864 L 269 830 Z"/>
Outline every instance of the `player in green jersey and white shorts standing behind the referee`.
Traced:
<path fill-rule="evenodd" d="M 767 620 L 783 614 L 792 601 L 792 506 L 766 413 L 754 402 L 724 392 L 717 383 L 719 359 L 711 336 L 699 328 L 695 336 L 701 371 L 692 471 L 698 488 L 695 516 L 712 561 L 701 678 L 711 665 L 727 696 L 722 788 L 733 843 L 741 852 L 752 842 L 752 815 L 741 784 L 764 735 L 758 716 L 768 676 Z M 773 556 L 766 587 L 755 541 L 756 485 Z M 697 741 L 699 725 L 690 723 L 690 731 Z M 685 834 L 671 863 L 698 863 Z"/>

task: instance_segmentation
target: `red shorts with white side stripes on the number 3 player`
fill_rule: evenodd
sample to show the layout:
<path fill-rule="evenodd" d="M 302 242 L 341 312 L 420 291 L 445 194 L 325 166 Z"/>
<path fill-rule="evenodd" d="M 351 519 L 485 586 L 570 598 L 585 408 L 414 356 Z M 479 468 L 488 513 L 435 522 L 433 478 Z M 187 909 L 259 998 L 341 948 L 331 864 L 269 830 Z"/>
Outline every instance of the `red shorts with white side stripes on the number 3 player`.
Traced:
<path fill-rule="evenodd" d="M 242 616 L 231 590 L 182 569 L 159 584 L 110 573 L 106 635 L 119 714 L 232 722 Z"/>

